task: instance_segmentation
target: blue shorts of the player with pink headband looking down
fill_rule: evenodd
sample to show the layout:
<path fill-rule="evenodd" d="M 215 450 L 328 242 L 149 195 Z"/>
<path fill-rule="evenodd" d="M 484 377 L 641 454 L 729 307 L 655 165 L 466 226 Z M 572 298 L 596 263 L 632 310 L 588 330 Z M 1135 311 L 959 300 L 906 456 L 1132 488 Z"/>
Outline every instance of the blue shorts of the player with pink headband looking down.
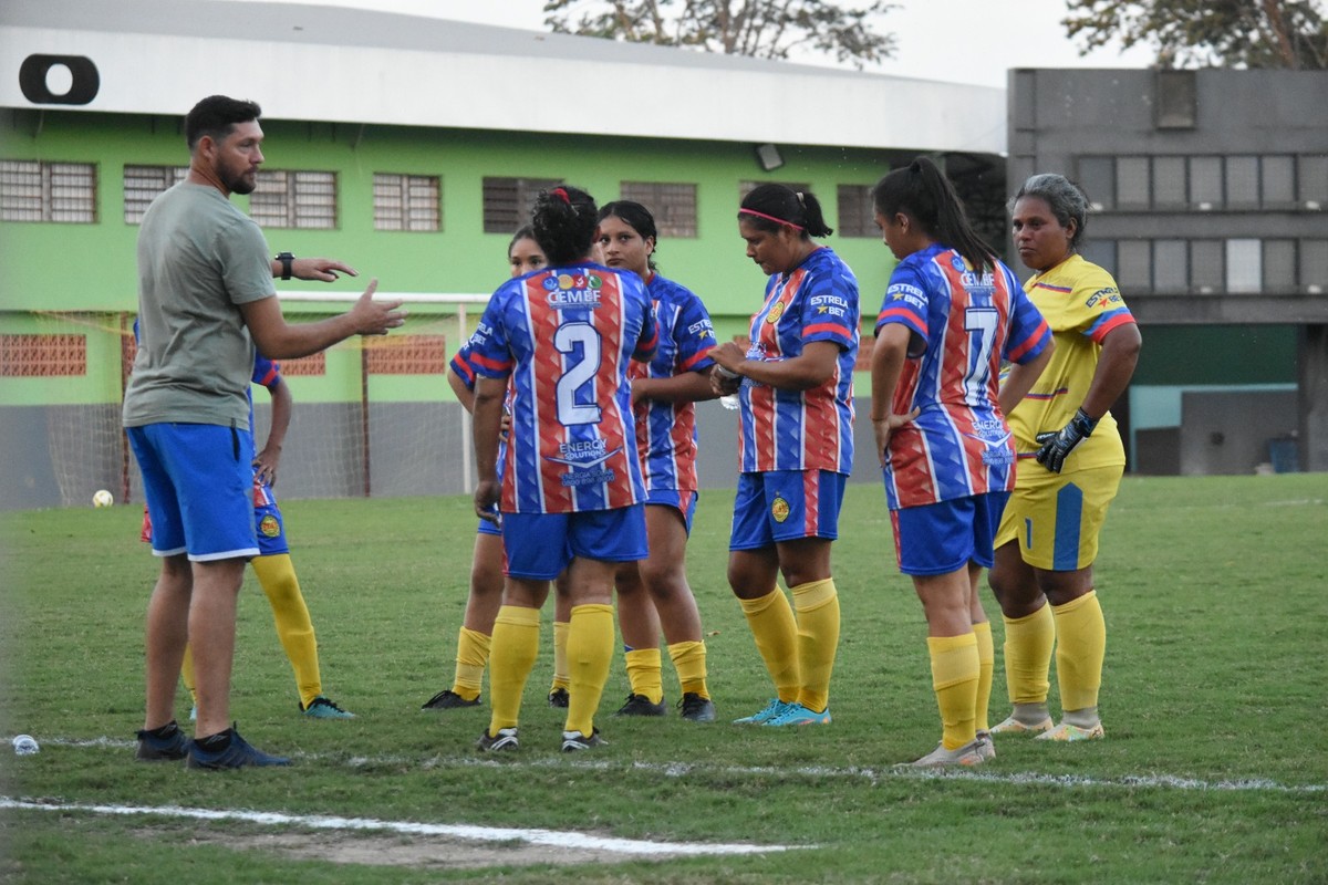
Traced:
<path fill-rule="evenodd" d="M 839 537 L 847 476 L 831 470 L 738 474 L 730 551 L 753 551 L 803 537 Z"/>

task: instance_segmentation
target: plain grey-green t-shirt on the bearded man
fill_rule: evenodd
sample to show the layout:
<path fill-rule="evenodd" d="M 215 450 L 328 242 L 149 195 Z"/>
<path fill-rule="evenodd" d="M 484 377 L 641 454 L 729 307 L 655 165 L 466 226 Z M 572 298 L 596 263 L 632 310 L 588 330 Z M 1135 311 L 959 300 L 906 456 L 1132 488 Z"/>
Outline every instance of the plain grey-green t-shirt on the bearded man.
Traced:
<path fill-rule="evenodd" d="M 215 187 L 182 182 L 138 231 L 138 357 L 124 423 L 248 429 L 254 341 L 240 304 L 275 297 L 263 231 Z"/>

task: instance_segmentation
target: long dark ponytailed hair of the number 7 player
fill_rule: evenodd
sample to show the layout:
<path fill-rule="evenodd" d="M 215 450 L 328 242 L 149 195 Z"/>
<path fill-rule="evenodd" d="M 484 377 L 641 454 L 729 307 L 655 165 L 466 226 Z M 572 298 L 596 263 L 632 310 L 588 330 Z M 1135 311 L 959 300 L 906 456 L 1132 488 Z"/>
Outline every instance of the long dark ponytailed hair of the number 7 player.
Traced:
<path fill-rule="evenodd" d="M 871 203 L 887 219 L 899 212 L 914 219 L 927 236 L 959 252 L 975 269 L 995 267 L 996 251 L 968 223 L 955 186 L 926 157 L 876 182 Z"/>

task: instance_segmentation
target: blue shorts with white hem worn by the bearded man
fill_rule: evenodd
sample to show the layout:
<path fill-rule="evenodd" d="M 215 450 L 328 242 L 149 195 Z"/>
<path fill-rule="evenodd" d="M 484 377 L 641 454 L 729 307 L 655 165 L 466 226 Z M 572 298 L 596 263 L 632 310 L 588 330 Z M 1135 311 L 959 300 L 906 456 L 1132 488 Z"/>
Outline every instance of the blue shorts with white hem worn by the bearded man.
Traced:
<path fill-rule="evenodd" d="M 190 560 L 258 556 L 254 443 L 220 425 L 126 427 L 153 516 L 153 553 Z"/>

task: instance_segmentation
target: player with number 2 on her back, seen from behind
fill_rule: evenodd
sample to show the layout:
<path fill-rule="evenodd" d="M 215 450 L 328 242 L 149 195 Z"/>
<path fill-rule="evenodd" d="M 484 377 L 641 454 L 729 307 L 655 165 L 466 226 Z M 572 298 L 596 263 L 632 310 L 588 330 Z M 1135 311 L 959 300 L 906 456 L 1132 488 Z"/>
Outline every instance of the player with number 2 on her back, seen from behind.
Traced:
<path fill-rule="evenodd" d="M 655 317 L 639 276 L 588 260 L 596 214 L 595 200 L 579 188 L 542 192 L 531 227 L 550 267 L 494 292 L 471 337 L 479 375 L 475 512 L 499 523 L 507 555 L 490 655 L 493 715 L 477 743 L 481 751 L 518 746 L 539 609 L 564 568 L 571 687 L 562 748 L 604 743 L 595 710 L 614 657 L 614 572 L 645 559 L 645 488 L 627 364 L 653 353 Z M 511 426 L 499 479 L 509 379 Z"/>

